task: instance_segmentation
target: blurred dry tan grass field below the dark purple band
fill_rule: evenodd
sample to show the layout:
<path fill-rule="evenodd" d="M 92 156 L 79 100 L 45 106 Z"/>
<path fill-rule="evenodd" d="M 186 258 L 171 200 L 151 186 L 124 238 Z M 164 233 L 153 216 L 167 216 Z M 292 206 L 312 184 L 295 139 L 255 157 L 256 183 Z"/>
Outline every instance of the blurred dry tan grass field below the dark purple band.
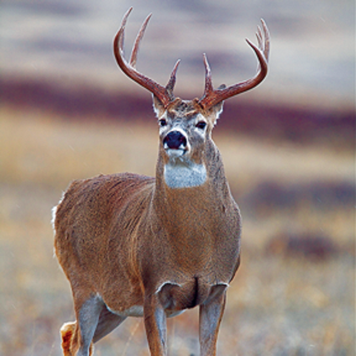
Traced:
<path fill-rule="evenodd" d="M 100 121 L 0 110 L 1 355 L 61 355 L 59 328 L 73 307 L 50 221 L 69 182 L 154 174 L 153 114 L 144 123 Z M 354 355 L 354 152 L 257 141 L 219 125 L 214 138 L 244 218 L 219 355 Z M 169 320 L 169 355 L 199 354 L 197 324 L 197 310 Z M 96 355 L 147 356 L 142 320 L 125 321 Z"/>

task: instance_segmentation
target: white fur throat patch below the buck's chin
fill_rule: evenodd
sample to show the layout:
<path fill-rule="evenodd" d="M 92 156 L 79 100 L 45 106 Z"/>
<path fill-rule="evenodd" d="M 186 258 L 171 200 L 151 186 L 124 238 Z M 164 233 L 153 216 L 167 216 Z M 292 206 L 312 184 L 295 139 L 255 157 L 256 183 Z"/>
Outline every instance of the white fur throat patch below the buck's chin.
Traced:
<path fill-rule="evenodd" d="M 206 182 L 206 168 L 204 164 L 176 159 L 164 166 L 164 180 L 169 188 L 198 187 Z"/>

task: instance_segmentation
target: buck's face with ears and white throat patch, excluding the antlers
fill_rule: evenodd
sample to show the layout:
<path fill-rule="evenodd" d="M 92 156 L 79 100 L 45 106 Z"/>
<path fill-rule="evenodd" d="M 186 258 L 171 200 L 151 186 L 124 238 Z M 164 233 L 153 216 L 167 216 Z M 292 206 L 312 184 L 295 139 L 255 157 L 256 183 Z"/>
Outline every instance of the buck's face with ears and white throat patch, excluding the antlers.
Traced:
<path fill-rule="evenodd" d="M 218 105 L 221 108 L 222 105 Z M 206 181 L 205 147 L 211 141 L 216 117 L 206 114 L 197 100 L 179 98 L 167 109 L 154 98 L 158 117 L 159 146 L 164 162 L 164 177 L 172 188 L 196 187 Z"/>

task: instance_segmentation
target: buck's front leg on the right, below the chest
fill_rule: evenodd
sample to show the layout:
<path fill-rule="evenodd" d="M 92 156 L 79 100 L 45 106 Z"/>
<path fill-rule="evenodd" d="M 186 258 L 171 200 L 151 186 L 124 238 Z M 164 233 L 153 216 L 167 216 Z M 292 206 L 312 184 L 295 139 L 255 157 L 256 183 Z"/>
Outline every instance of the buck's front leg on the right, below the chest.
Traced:
<path fill-rule="evenodd" d="M 216 355 L 216 341 L 225 309 L 226 288 L 226 284 L 212 287 L 208 299 L 200 305 L 200 356 Z"/>

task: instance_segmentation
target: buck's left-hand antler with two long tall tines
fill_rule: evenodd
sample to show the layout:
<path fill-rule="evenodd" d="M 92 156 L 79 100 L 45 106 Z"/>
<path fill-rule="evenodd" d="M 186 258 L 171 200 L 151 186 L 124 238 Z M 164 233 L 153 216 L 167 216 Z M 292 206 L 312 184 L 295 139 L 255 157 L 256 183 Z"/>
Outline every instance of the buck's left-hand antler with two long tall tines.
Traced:
<path fill-rule="evenodd" d="M 130 7 L 130 9 L 124 15 L 121 22 L 121 27 L 114 38 L 114 54 L 115 54 L 116 62 L 117 64 L 119 64 L 119 67 L 129 78 L 134 80 L 136 83 L 140 84 L 142 87 L 151 91 L 151 93 L 153 93 L 153 95 L 155 95 L 162 102 L 163 106 L 166 108 L 169 105 L 169 103 L 171 103 L 171 101 L 174 100 L 173 89 L 174 89 L 174 84 L 176 84 L 176 73 L 180 60 L 178 60 L 176 65 L 174 66 L 171 73 L 171 77 L 169 78 L 166 87 L 163 87 L 162 85 L 156 83 L 154 80 L 146 77 L 145 75 L 141 74 L 136 70 L 137 53 L 140 47 L 140 42 L 145 33 L 148 21 L 152 16 L 152 14 L 150 14 L 146 17 L 146 20 L 143 21 L 142 23 L 140 31 L 138 32 L 135 40 L 135 44 L 133 45 L 132 48 L 130 61 L 129 63 L 127 63 L 124 57 L 124 36 L 125 36 L 125 26 L 126 26 L 127 18 L 129 17 L 131 11 L 132 11 L 132 7 Z"/>

